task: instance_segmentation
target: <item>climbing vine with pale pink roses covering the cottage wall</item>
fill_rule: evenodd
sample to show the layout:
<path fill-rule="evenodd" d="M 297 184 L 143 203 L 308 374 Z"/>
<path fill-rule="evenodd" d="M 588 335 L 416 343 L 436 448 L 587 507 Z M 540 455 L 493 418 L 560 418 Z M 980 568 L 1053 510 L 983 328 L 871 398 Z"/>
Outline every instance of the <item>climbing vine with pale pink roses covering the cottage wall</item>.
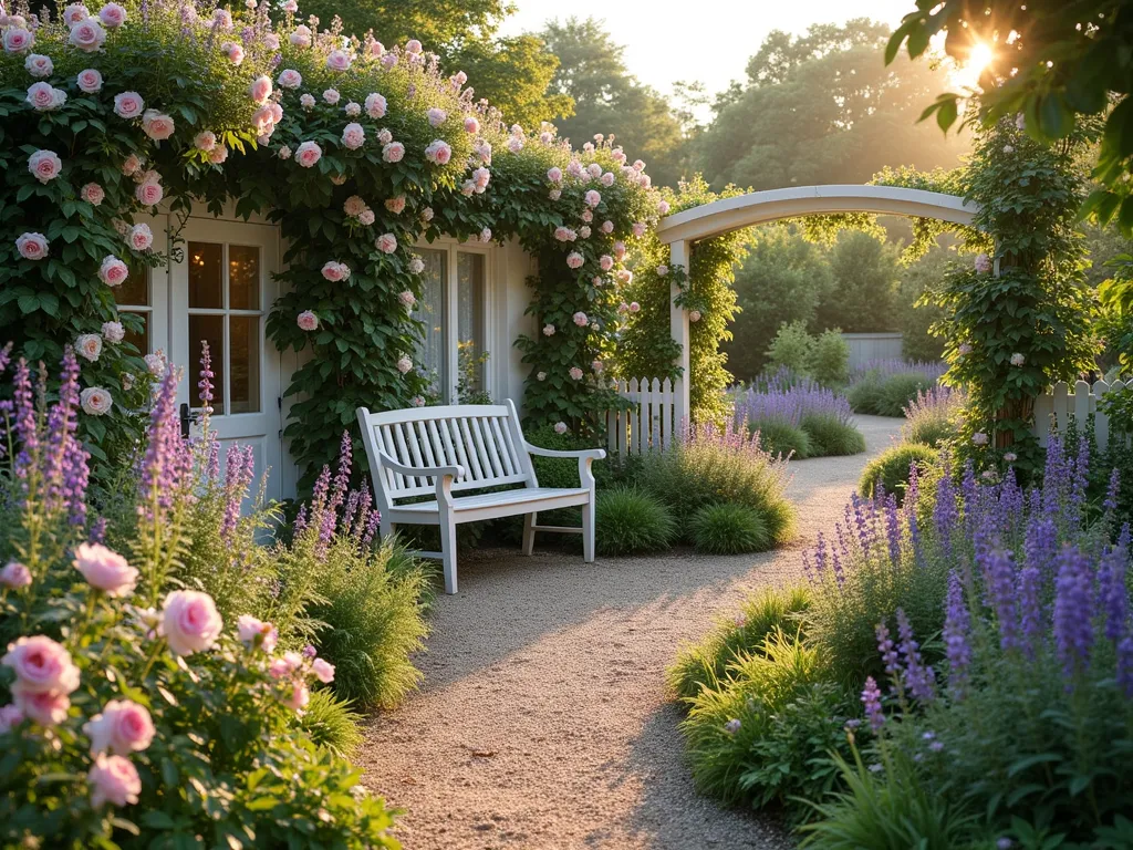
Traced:
<path fill-rule="evenodd" d="M 608 144 L 572 151 L 552 127 L 506 127 L 415 41 L 386 49 L 338 22 L 320 31 L 293 0 L 282 8 L 275 24 L 266 3 L 179 0 L 73 3 L 52 22 L 17 7 L 0 22 L 0 337 L 33 359 L 97 339 L 82 375 L 96 401 L 84 406 L 88 444 L 117 430 L 128 449 L 144 400 L 146 364 L 114 328 L 131 320 L 112 288 L 127 266 L 168 257 L 134 220 L 160 204 L 185 215 L 194 199 L 219 211 L 236 198 L 289 246 L 267 333 L 305 351 L 286 430 L 301 486 L 356 406 L 424 403 L 421 238 L 517 237 L 539 260 L 531 312 L 555 328 L 520 341 L 529 414 L 608 403 L 617 290 L 659 214 L 644 163 Z"/>

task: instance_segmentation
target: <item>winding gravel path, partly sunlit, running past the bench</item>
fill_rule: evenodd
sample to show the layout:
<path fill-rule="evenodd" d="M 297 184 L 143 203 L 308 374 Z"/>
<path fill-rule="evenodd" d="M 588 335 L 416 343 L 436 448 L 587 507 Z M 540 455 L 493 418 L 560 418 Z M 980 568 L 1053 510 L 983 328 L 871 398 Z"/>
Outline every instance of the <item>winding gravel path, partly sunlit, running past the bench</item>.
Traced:
<path fill-rule="evenodd" d="M 664 670 L 752 588 L 799 571 L 900 420 L 858 417 L 867 454 L 792 462 L 799 539 L 759 555 L 460 553 L 433 612 L 419 694 L 372 717 L 365 783 L 408 814 L 409 850 L 777 850 L 776 825 L 693 789 Z"/>

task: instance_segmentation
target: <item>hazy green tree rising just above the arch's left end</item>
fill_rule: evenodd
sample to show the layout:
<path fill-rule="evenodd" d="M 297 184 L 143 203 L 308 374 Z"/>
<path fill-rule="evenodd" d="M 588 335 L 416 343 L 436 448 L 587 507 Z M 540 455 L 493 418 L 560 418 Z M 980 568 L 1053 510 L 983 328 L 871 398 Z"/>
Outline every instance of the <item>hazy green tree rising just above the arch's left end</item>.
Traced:
<path fill-rule="evenodd" d="M 581 147 L 596 133 L 613 134 L 648 163 L 655 184 L 676 186 L 683 175 L 681 120 L 670 99 L 629 73 L 624 48 L 594 18 L 551 22 L 540 36 L 559 58 L 551 93 L 574 101 L 574 113 L 556 122 L 560 135 Z"/>

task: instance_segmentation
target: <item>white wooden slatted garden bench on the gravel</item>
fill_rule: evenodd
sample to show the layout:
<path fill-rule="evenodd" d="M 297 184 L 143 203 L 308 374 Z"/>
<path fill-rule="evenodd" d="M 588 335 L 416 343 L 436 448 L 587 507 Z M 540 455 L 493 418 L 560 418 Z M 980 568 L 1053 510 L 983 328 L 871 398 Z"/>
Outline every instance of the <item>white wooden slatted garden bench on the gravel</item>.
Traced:
<path fill-rule="evenodd" d="M 438 526 L 441 552 L 420 552 L 444 563 L 445 593 L 457 593 L 457 524 L 495 517 L 523 520 L 523 554 L 531 554 L 536 532 L 581 534 L 587 563 L 594 561 L 594 474 L 602 449 L 554 451 L 523 439 L 516 406 L 453 405 L 372 414 L 358 408 L 374 494 L 382 511 L 382 536 L 399 524 Z M 578 487 L 540 487 L 531 456 L 577 458 Z M 514 488 L 459 495 L 463 491 L 511 485 Z M 516 485 L 522 485 L 516 487 Z M 400 503 L 432 495 L 431 501 Z M 581 505 L 582 527 L 540 526 L 538 512 Z"/>

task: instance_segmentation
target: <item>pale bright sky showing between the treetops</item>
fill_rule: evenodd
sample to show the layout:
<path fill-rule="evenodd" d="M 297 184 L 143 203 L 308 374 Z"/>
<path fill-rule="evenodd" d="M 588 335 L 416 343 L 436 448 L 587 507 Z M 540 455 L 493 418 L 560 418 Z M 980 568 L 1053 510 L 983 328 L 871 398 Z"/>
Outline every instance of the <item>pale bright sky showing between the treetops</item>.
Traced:
<path fill-rule="evenodd" d="M 625 46 L 631 74 L 663 93 L 700 80 L 710 93 L 744 79 L 748 59 L 773 29 L 804 33 L 811 24 L 868 17 L 896 27 L 913 0 L 513 0 L 503 33 L 543 28 L 570 16 L 604 20 Z"/>

